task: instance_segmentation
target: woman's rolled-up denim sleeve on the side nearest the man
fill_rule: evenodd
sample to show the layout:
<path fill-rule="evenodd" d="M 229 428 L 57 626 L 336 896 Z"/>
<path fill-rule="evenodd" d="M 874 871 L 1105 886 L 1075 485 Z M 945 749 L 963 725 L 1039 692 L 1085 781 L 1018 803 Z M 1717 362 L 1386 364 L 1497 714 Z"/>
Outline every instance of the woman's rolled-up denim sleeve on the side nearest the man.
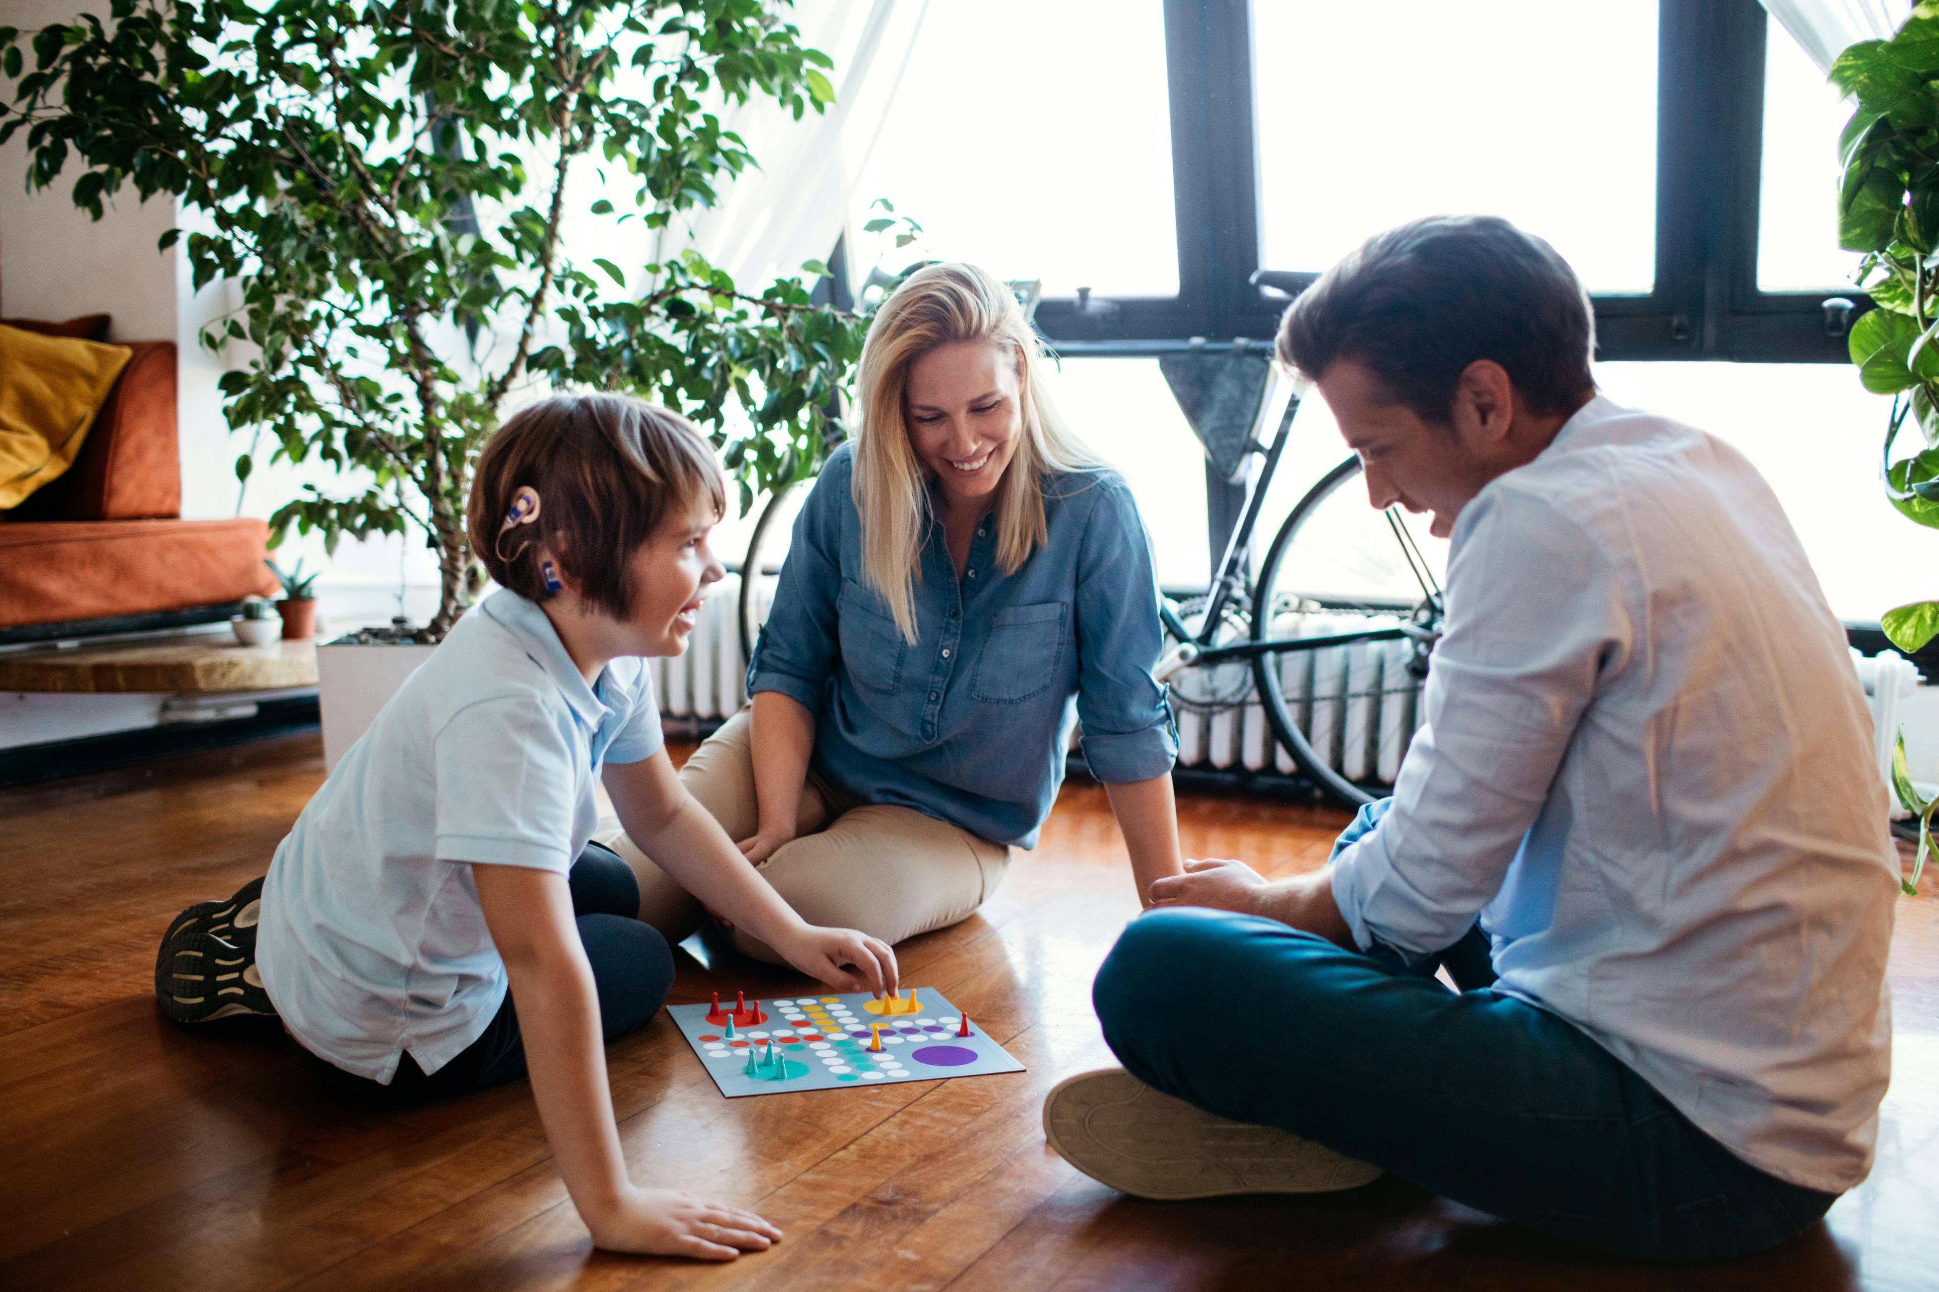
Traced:
<path fill-rule="evenodd" d="M 1092 775 L 1121 784 L 1171 771 L 1179 740 L 1152 678 L 1165 641 L 1144 521 L 1121 480 L 1097 492 L 1078 552 L 1078 723 Z"/>

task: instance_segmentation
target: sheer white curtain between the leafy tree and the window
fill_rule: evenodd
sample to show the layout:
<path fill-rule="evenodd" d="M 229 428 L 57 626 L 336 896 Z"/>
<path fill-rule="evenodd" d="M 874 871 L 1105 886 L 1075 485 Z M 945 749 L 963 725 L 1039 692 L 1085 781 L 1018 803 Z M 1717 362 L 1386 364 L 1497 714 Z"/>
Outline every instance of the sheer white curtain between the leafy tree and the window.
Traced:
<path fill-rule="evenodd" d="M 826 260 L 847 223 L 861 169 L 896 103 L 929 0 L 801 0 L 801 41 L 834 58 L 836 101 L 797 122 L 770 99 L 725 114 L 760 169 L 748 169 L 719 205 L 692 211 L 661 236 L 661 254 L 683 244 L 733 275 L 743 291 Z"/>

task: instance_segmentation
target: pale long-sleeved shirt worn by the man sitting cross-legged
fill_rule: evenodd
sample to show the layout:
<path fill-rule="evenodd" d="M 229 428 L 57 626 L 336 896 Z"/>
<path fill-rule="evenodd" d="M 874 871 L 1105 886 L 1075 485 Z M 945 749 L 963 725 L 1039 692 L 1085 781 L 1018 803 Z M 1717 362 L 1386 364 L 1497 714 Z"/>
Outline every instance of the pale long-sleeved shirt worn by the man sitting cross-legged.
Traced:
<path fill-rule="evenodd" d="M 1863 1180 L 1898 854 L 1844 630 L 1770 486 L 1598 397 L 1462 509 L 1446 608 L 1394 804 L 1332 864 L 1353 939 L 1423 955 L 1479 916 L 1495 990 L 1751 1164 Z"/>

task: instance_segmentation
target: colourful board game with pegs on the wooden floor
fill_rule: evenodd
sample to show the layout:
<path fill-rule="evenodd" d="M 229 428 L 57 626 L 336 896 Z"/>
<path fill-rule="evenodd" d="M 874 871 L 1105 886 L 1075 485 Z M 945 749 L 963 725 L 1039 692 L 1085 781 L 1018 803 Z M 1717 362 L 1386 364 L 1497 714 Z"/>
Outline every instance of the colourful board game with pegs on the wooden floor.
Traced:
<path fill-rule="evenodd" d="M 940 992 L 907 988 L 723 1005 L 669 1005 L 667 1013 L 727 1098 L 847 1085 L 1020 1073 L 1024 1065 Z"/>

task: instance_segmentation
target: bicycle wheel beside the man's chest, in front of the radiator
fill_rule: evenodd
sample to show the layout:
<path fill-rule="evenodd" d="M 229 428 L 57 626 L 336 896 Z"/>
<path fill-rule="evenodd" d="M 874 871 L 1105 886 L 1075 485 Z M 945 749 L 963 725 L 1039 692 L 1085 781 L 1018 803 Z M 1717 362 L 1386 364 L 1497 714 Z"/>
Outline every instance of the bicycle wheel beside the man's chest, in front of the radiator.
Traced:
<path fill-rule="evenodd" d="M 1446 577 L 1446 540 L 1427 533 L 1425 517 L 1375 511 L 1357 480 L 1359 459 L 1350 457 L 1307 490 L 1274 537 L 1253 599 L 1253 641 L 1350 639 L 1253 657 L 1287 755 L 1282 767 L 1289 761 L 1346 806 L 1371 802 L 1400 769 Z M 1410 635 L 1351 641 L 1394 630 Z"/>

